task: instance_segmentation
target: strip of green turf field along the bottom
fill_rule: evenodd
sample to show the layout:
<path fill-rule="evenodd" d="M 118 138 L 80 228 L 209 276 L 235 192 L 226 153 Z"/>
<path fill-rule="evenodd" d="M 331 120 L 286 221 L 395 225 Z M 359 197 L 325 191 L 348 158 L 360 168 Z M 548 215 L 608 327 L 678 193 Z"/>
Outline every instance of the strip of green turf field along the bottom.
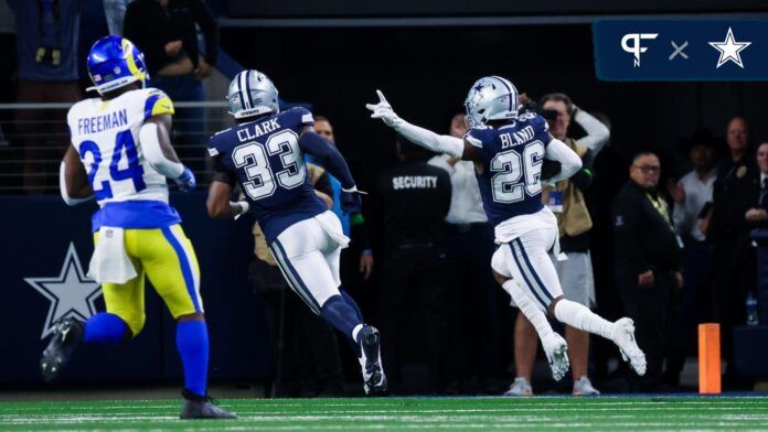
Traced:
<path fill-rule="evenodd" d="M 0 430 L 768 430 L 768 397 L 225 399 L 228 421 L 179 401 L 3 402 Z"/>

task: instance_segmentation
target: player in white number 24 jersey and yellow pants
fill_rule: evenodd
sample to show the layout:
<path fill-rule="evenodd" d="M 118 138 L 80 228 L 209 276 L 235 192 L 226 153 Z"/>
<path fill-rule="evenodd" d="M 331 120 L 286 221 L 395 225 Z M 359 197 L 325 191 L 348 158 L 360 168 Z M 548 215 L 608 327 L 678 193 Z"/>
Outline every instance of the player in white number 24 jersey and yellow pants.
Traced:
<path fill-rule="evenodd" d="M 195 186 L 192 172 L 171 147 L 173 104 L 143 88 L 143 55 L 130 41 L 107 36 L 88 55 L 93 89 L 100 97 L 75 104 L 67 115 L 72 145 L 61 165 L 60 186 L 68 205 L 96 198 L 96 244 L 88 276 L 102 283 L 106 312 L 86 322 L 60 321 L 43 352 L 41 368 L 55 378 L 78 343 L 109 344 L 136 337 L 145 324 L 145 276 L 177 321 L 177 347 L 184 368 L 182 419 L 232 419 L 206 392 L 209 336 L 200 296 L 200 269 L 168 204 L 167 179 Z"/>

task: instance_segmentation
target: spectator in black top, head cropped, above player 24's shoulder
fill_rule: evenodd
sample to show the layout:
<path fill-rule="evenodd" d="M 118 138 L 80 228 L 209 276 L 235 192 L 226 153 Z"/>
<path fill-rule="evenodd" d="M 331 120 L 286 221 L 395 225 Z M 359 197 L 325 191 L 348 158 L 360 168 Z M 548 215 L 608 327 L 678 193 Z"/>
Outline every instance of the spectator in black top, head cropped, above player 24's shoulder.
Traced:
<path fill-rule="evenodd" d="M 195 24 L 205 35 L 198 48 Z M 174 102 L 205 100 L 201 80 L 212 73 L 218 52 L 218 24 L 203 0 L 136 0 L 128 4 L 124 34 L 145 53 L 149 86 Z M 174 116 L 177 144 L 204 143 L 205 109 L 179 108 Z"/>

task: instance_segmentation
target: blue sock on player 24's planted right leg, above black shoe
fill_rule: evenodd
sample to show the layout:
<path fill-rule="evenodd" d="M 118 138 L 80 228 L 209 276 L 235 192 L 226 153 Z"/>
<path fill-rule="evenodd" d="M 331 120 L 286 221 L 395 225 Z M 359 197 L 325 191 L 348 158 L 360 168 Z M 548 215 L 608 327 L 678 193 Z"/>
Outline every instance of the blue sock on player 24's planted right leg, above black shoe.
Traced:
<path fill-rule="evenodd" d="M 209 339 L 204 321 L 177 324 L 177 348 L 184 366 L 184 386 L 198 396 L 205 396 Z"/>

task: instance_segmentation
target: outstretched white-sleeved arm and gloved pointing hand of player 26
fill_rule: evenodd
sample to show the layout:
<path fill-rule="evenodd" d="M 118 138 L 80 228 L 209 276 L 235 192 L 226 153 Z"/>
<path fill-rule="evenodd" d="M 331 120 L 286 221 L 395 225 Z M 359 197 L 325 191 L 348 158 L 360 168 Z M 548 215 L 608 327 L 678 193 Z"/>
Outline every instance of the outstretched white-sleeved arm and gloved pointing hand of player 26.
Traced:
<path fill-rule="evenodd" d="M 378 104 L 365 105 L 365 108 L 373 111 L 371 118 L 382 119 L 386 126 L 397 131 L 408 141 L 429 151 L 449 154 L 465 161 L 481 161 L 474 145 L 467 142 L 467 140 L 451 136 L 440 136 L 430 130 L 410 125 L 395 114 L 381 90 L 376 90 L 376 94 L 378 95 Z"/>

